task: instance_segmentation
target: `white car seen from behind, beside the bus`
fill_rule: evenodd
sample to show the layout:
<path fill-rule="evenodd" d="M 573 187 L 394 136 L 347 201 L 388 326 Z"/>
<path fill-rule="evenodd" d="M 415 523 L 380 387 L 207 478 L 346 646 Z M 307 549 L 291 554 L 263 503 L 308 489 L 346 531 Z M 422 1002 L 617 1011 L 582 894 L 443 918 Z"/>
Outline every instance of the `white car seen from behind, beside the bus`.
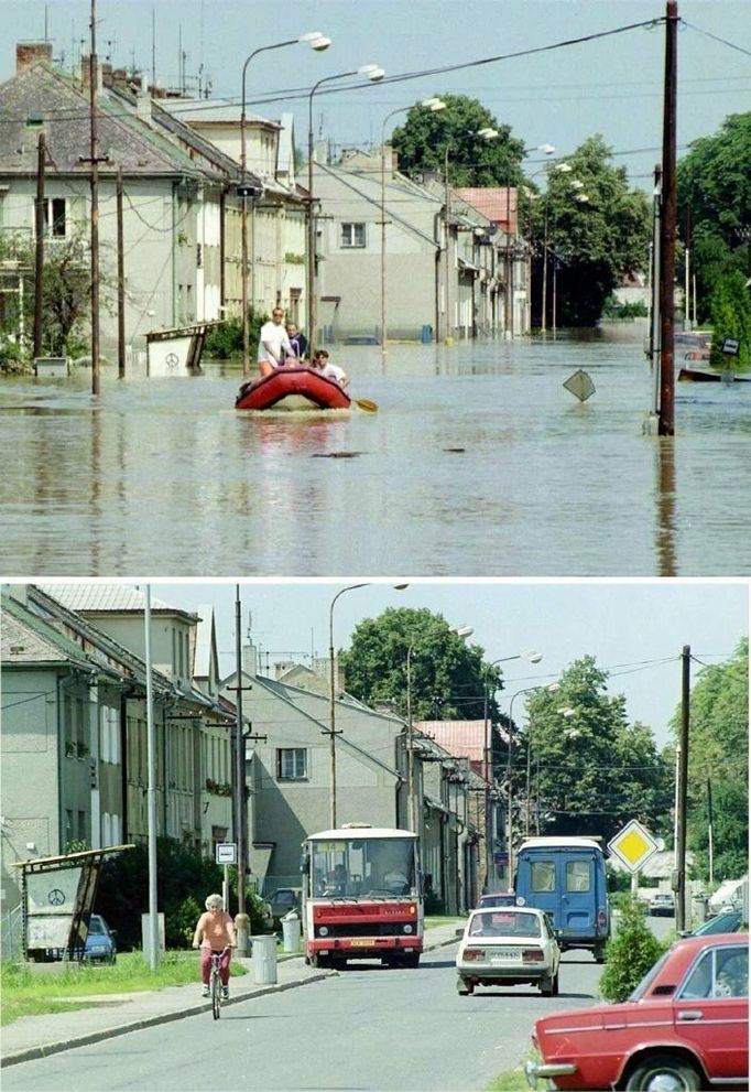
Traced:
<path fill-rule="evenodd" d="M 538 986 L 544 997 L 558 993 L 560 949 L 549 919 L 531 907 L 474 910 L 456 955 L 457 988 Z"/>

